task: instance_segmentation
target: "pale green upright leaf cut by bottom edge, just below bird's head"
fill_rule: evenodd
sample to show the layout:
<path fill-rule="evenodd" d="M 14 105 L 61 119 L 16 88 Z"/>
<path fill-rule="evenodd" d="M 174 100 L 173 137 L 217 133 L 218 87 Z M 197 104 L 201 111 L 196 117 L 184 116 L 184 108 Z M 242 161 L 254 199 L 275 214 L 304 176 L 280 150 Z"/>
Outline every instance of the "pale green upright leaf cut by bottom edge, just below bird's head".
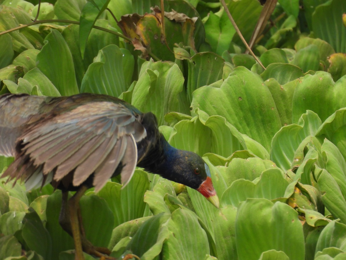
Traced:
<path fill-rule="evenodd" d="M 204 259 L 206 254 L 210 254 L 207 235 L 192 211 L 175 210 L 163 226 L 169 232 L 162 246 L 164 259 Z"/>

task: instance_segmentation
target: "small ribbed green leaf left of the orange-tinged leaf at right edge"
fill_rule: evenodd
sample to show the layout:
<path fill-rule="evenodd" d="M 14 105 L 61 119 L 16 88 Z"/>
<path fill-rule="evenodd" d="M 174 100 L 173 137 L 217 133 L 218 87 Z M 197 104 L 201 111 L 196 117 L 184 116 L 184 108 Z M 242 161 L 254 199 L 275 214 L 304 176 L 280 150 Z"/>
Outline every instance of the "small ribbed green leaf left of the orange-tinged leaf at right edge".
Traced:
<path fill-rule="evenodd" d="M 319 50 L 314 44 L 310 44 L 297 51 L 291 64 L 301 68 L 303 72 L 318 70 L 320 65 Z"/>

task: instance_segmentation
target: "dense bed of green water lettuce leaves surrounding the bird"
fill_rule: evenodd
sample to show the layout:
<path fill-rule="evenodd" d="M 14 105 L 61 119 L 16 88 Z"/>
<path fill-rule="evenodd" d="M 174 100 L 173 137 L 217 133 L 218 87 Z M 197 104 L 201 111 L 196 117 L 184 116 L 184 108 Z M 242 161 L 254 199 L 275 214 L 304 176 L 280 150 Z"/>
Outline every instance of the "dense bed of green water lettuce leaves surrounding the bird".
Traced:
<path fill-rule="evenodd" d="M 249 41 L 264 7 L 226 3 Z M 152 111 L 171 145 L 203 156 L 220 198 L 137 169 L 123 190 L 113 179 L 82 197 L 94 245 L 142 260 L 345 258 L 344 0 L 274 1 L 253 47 L 265 69 L 217 1 L 164 1 L 164 20 L 156 0 L 38 6 L 0 1 L 0 94 L 102 93 Z M 50 185 L 0 180 L 0 259 L 74 259 L 60 205 Z"/>

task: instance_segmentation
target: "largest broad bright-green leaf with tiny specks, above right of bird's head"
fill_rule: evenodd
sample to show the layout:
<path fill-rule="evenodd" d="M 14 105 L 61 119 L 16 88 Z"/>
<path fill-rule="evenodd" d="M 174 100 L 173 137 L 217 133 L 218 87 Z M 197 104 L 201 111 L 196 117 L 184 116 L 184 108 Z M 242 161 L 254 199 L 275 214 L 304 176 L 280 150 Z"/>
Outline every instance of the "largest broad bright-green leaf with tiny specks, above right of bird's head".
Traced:
<path fill-rule="evenodd" d="M 267 150 L 275 132 L 281 127 L 268 88 L 258 75 L 244 67 L 235 68 L 220 88 L 204 86 L 195 90 L 191 106 L 193 111 L 199 107 L 209 115 L 225 117 L 239 132 L 256 140 Z"/>

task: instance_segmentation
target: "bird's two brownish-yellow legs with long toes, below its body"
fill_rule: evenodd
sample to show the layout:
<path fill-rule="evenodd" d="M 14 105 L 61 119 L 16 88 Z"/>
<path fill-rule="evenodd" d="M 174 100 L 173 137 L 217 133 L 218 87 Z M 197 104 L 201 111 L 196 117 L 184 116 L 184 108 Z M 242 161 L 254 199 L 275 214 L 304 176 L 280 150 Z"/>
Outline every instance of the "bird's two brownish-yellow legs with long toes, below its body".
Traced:
<path fill-rule="evenodd" d="M 70 199 L 68 199 L 69 192 L 63 191 L 59 223 L 73 237 L 76 252 L 75 259 L 83 260 L 83 251 L 104 259 L 115 259 L 109 256 L 111 251 L 108 248 L 95 247 L 85 237 L 79 200 L 86 189 L 87 187 L 82 186 Z"/>

